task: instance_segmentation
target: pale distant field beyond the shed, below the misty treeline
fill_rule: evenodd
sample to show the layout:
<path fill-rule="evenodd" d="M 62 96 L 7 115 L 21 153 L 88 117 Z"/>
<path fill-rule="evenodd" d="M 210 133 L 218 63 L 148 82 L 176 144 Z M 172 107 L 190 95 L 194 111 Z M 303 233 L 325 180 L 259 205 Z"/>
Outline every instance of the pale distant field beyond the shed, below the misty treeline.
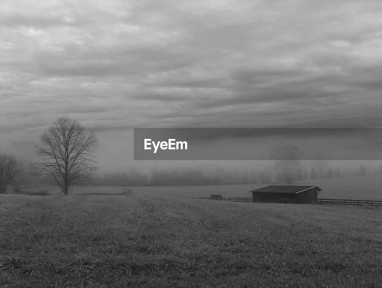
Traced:
<path fill-rule="evenodd" d="M 304 180 L 293 183 L 295 185 L 318 185 L 322 191 L 319 198 L 329 199 L 358 199 L 382 201 L 382 177 L 341 177 L 331 179 Z M 134 195 L 147 195 L 159 197 L 209 197 L 211 194 L 221 194 L 223 197 L 252 197 L 249 191 L 269 184 L 245 185 L 213 185 L 213 186 L 142 186 L 130 187 Z M 79 193 L 121 193 L 123 187 L 83 186 L 74 187 L 71 194 Z M 24 186 L 24 190 L 47 190 L 50 194 L 57 194 L 55 186 Z M 10 191 L 11 192 L 11 189 Z"/>

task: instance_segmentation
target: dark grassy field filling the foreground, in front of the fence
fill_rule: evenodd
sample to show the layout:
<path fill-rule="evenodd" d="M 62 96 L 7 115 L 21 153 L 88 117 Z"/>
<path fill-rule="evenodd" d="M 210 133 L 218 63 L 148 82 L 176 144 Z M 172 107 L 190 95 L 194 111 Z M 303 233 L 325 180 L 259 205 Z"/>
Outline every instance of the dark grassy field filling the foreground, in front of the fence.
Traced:
<path fill-rule="evenodd" d="M 380 208 L 3 194 L 0 247 L 0 287 L 382 286 Z"/>

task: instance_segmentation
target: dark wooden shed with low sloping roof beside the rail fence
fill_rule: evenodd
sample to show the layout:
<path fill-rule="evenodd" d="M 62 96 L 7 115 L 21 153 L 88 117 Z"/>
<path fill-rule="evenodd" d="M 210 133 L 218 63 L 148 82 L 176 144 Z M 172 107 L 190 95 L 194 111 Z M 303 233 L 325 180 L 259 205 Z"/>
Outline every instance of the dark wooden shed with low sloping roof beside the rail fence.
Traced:
<path fill-rule="evenodd" d="M 317 199 L 320 191 L 317 185 L 269 185 L 250 192 L 253 202 L 309 203 L 309 199 Z"/>

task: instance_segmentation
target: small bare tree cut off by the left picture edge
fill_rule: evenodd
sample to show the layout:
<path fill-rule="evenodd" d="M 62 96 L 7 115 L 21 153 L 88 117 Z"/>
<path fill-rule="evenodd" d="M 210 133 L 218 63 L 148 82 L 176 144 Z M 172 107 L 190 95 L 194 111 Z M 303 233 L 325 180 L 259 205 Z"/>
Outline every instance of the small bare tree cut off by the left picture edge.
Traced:
<path fill-rule="evenodd" d="M 0 193 L 5 193 L 6 187 L 21 171 L 22 166 L 14 156 L 0 154 Z"/>

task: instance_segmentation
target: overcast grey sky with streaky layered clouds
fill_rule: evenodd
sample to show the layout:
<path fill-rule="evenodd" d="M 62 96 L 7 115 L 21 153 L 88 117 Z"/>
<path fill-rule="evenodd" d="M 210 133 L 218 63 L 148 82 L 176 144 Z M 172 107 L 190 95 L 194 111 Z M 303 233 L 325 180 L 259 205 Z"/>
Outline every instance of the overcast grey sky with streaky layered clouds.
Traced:
<path fill-rule="evenodd" d="M 0 149 L 38 142 L 61 116 L 96 133 L 101 164 L 133 159 L 133 128 L 380 128 L 381 11 L 2 0 Z"/>

